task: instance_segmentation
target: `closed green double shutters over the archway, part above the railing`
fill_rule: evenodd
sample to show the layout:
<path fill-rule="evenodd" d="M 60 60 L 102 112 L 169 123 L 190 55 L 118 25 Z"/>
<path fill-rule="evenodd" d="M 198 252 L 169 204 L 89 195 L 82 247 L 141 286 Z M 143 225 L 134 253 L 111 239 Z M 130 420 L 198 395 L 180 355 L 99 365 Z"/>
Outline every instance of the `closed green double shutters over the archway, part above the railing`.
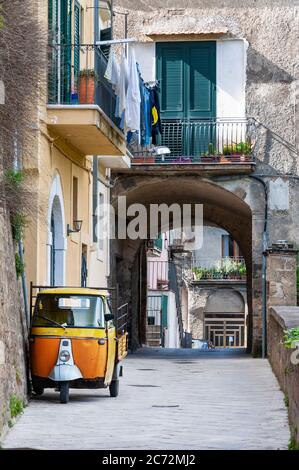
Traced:
<path fill-rule="evenodd" d="M 162 118 L 215 117 L 216 43 L 158 43 L 156 54 Z"/>

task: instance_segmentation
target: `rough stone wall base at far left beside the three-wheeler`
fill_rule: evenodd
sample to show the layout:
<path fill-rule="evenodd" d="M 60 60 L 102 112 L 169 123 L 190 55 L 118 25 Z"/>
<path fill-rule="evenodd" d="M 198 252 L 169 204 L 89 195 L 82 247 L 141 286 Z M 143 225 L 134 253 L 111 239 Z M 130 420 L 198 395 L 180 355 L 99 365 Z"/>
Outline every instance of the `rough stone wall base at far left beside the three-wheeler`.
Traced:
<path fill-rule="evenodd" d="M 16 279 L 9 218 L 0 209 L 0 436 L 10 415 L 10 399 L 27 400 L 25 324 Z"/>

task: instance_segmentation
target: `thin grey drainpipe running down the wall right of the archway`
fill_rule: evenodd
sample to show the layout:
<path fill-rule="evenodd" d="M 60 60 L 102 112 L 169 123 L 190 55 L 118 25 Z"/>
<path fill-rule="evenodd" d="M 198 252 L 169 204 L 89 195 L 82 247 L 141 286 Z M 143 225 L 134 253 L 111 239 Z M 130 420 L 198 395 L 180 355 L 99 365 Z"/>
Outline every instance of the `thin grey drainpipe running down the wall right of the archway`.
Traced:
<path fill-rule="evenodd" d="M 265 192 L 265 218 L 264 218 L 264 230 L 263 230 L 263 253 L 262 253 L 262 357 L 267 357 L 267 264 L 266 264 L 266 250 L 268 249 L 268 186 L 267 183 L 256 175 L 249 175 L 249 178 L 253 178 L 259 181 L 264 188 Z"/>

